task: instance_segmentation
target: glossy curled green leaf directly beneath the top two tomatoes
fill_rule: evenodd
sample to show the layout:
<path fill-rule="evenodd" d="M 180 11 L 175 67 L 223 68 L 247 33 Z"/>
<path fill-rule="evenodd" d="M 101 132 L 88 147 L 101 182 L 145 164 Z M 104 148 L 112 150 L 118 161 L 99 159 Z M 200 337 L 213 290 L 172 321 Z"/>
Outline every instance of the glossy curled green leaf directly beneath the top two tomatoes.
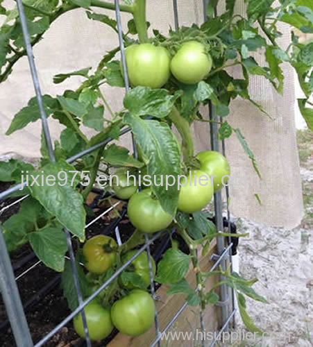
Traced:
<path fill-rule="evenodd" d="M 163 118 L 169 115 L 177 96 L 169 95 L 164 89 L 135 87 L 124 97 L 124 107 L 131 115 Z"/>

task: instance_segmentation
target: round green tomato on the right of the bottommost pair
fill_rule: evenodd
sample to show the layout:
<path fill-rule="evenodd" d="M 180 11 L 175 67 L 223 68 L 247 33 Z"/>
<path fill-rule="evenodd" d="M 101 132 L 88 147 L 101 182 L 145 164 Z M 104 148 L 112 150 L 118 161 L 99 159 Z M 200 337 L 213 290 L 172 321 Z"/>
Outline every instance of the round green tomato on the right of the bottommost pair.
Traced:
<path fill-rule="evenodd" d="M 111 310 L 112 322 L 124 334 L 142 335 L 154 322 L 155 305 L 151 295 L 141 289 L 133 289 L 130 294 L 116 301 Z"/>

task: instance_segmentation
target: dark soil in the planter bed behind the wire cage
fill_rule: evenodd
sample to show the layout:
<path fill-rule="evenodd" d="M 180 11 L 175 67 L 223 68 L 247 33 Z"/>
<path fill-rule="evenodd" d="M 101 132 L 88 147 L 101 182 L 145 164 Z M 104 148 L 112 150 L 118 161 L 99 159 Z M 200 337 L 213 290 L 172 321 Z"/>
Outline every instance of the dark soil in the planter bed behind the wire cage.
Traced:
<path fill-rule="evenodd" d="M 0 192 L 7 189 L 10 184 L 0 183 Z M 9 198 L 3 204 L 0 203 L 0 210 L 4 205 L 8 205 L 15 201 L 17 198 Z M 15 214 L 19 209 L 19 203 L 14 205 L 12 208 L 5 210 L 0 215 L 0 221 L 3 223 L 8 219 L 12 214 Z M 98 210 L 95 214 L 100 214 L 102 210 Z M 87 223 L 91 221 L 94 217 L 87 217 Z M 114 220 L 113 220 L 114 221 Z M 112 220 L 111 220 L 112 222 Z M 103 230 L 108 230 L 108 225 L 110 221 L 108 219 L 99 219 L 96 221 L 91 228 L 87 229 L 87 237 L 92 235 L 98 235 L 103 233 Z M 121 235 L 122 242 L 125 242 L 126 239 L 133 232 L 133 226 L 128 223 L 127 219 L 124 219 L 119 223 L 119 232 Z M 112 235 L 115 235 L 114 230 L 112 230 Z M 108 234 L 105 232 L 105 234 Z M 176 238 L 176 234 L 174 234 L 174 238 Z M 168 239 L 168 237 L 164 237 Z M 160 248 L 158 248 L 158 244 L 160 244 L 161 240 L 158 239 L 158 242 L 151 245 L 151 253 L 155 257 L 155 254 L 158 257 L 158 253 L 160 253 Z M 158 248 L 158 249 L 157 249 Z M 168 248 L 168 246 L 167 246 Z M 154 251 L 159 252 L 154 252 Z M 164 252 L 164 251 L 163 251 Z M 32 250 L 28 244 L 19 248 L 18 251 L 10 254 L 12 266 L 15 269 L 15 276 L 19 276 L 19 274 L 29 269 L 30 266 L 35 264 L 38 260 L 37 257 L 32 257 Z M 25 257 L 28 257 L 28 261 L 23 264 Z M 158 259 L 155 259 L 158 260 Z M 22 266 L 21 266 L 22 265 Z M 49 291 L 44 291 L 45 286 L 49 286 L 49 282 L 53 282 L 52 288 Z M 158 287 L 158 284 L 155 284 Z M 35 266 L 31 271 L 26 273 L 26 275 L 22 276 L 17 280 L 17 286 L 19 288 L 19 294 L 22 298 L 22 303 L 24 307 L 26 306 L 26 319 L 28 321 L 29 328 L 31 330 L 31 335 L 33 338 L 33 342 L 37 343 L 42 339 L 47 333 L 49 333 L 53 328 L 58 325 L 63 319 L 65 319 L 71 312 L 67 307 L 67 301 L 62 296 L 62 289 L 60 289 L 60 274 L 55 271 L 47 268 L 43 264 L 39 264 Z M 43 293 L 42 293 L 43 291 Z M 35 296 L 35 297 L 34 297 Z M 34 303 L 29 303 L 31 299 L 35 298 Z M 12 331 L 10 329 L 10 325 L 7 324 L 5 327 L 1 327 L 1 324 L 7 321 L 6 310 L 3 305 L 0 296 L 0 346 L 1 347 L 13 347 L 16 346 L 14 337 L 12 335 Z M 113 330 L 112 334 L 108 339 L 102 341 L 101 344 L 94 343 L 92 346 L 105 346 L 112 337 L 117 334 L 117 330 Z M 59 330 L 56 335 L 54 335 L 48 343 L 44 344 L 46 347 L 69 347 L 76 346 L 81 347 L 84 346 L 83 339 L 80 339 L 71 323 L 67 324 L 61 330 Z"/>

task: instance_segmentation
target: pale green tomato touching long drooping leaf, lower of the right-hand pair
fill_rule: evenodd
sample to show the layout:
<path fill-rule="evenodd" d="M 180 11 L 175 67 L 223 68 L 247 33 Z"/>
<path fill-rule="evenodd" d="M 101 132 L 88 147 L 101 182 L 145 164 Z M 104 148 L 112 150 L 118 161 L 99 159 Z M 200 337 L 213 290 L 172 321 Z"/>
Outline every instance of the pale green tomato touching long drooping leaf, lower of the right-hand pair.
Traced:
<path fill-rule="evenodd" d="M 178 210 L 186 213 L 201 211 L 210 203 L 213 187 L 210 176 L 201 170 L 191 171 L 187 176 L 187 184 L 180 187 Z"/>

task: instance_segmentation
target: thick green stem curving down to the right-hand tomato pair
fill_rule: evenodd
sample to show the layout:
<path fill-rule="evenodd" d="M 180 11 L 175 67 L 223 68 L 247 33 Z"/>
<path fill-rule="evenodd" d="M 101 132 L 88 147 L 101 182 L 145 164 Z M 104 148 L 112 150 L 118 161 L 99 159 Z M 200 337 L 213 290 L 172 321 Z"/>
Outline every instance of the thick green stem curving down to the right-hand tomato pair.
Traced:
<path fill-rule="evenodd" d="M 187 119 L 180 116 L 175 106 L 169 114 L 169 119 L 174 123 L 174 126 L 182 138 L 182 151 L 184 160 L 186 161 L 194 155 L 194 140 L 192 139 L 189 123 Z"/>

